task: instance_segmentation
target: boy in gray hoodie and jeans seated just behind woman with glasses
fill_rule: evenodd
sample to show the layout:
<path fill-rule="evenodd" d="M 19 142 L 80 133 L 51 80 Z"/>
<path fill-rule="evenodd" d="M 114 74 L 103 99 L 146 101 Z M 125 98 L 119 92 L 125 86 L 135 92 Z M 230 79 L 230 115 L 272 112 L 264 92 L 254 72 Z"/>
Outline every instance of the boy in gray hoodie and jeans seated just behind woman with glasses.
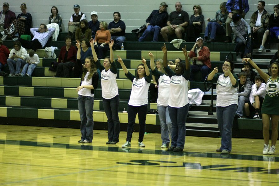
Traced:
<path fill-rule="evenodd" d="M 240 72 L 238 74 L 239 84 L 238 84 L 238 105 L 237 111 L 235 113 L 236 118 L 241 118 L 243 116 L 244 104 L 249 102 L 249 96 L 251 91 L 251 82 L 247 81 L 246 72 Z"/>

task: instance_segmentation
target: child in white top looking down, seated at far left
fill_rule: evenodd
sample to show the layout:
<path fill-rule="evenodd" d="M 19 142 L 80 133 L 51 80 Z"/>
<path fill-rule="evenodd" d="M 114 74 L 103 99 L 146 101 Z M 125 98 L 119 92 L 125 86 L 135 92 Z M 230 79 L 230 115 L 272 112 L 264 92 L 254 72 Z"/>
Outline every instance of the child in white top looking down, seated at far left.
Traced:
<path fill-rule="evenodd" d="M 29 54 L 26 56 L 26 64 L 24 65 L 19 76 L 31 77 L 37 64 L 40 63 L 39 56 L 35 54 L 35 51 L 30 50 Z"/>

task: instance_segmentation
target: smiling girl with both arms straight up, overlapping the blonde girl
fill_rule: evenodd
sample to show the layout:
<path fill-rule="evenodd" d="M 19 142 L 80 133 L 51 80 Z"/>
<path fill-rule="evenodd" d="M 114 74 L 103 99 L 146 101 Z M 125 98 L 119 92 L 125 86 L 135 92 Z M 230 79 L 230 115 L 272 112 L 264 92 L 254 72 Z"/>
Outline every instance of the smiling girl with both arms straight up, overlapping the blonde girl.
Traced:
<path fill-rule="evenodd" d="M 183 151 L 185 144 L 185 122 L 189 110 L 188 82 L 190 78 L 190 63 L 186 46 L 182 48 L 185 63 L 178 62 L 173 72 L 168 66 L 166 44 L 162 47 L 164 53 L 163 64 L 166 73 L 170 77 L 170 91 L 168 99 L 168 111 L 172 123 L 171 144 L 168 151 Z"/>

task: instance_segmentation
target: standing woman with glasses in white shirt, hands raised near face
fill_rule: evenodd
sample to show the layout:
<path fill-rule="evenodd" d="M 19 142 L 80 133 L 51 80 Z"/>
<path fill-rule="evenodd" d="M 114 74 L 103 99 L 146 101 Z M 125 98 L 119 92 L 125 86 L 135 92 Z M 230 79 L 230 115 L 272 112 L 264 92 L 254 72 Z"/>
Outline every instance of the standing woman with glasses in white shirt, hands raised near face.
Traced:
<path fill-rule="evenodd" d="M 216 114 L 222 139 L 221 147 L 216 151 L 222 154 L 228 154 L 232 150 L 232 122 L 238 103 L 238 78 L 233 73 L 233 69 L 232 60 L 225 60 L 222 67 L 223 72 L 218 72 L 218 68 L 215 67 L 207 76 L 207 81 L 217 82 Z"/>

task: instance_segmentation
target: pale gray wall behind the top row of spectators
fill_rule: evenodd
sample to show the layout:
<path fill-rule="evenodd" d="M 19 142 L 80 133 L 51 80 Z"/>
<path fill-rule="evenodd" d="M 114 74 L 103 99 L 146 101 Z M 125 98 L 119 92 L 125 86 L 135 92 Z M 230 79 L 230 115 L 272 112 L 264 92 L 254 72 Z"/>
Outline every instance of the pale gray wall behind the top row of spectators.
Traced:
<path fill-rule="evenodd" d="M 10 5 L 10 10 L 15 12 L 17 16 L 20 11 L 20 4 L 25 2 L 27 6 L 27 12 L 31 13 L 33 17 L 33 27 L 38 27 L 39 24 L 48 24 L 48 17 L 51 14 L 51 7 L 56 6 L 59 13 L 62 15 L 62 32 L 68 31 L 68 22 L 73 12 L 73 5 L 79 4 L 81 11 L 85 13 L 86 19 L 91 20 L 90 12 L 98 12 L 98 20 L 111 22 L 113 20 L 113 12 L 119 11 L 121 13 L 121 20 L 126 24 L 126 32 L 131 32 L 132 29 L 138 28 L 145 24 L 146 18 L 151 11 L 159 9 L 159 5 L 164 0 L 25 0 L 25 1 L 7 1 Z M 3 1 L 4 2 L 4 1 Z M 168 4 L 168 13 L 175 11 L 175 2 L 165 0 Z M 202 8 L 202 13 L 205 17 L 205 24 L 207 24 L 206 18 L 215 17 L 215 13 L 219 10 L 219 5 L 224 0 L 191 0 L 181 1 L 182 10 L 187 11 L 189 16 L 193 14 L 193 3 L 198 4 Z M 250 23 L 250 17 L 254 11 L 257 10 L 258 0 L 248 0 L 250 11 L 246 15 L 246 21 Z M 2 3 L 2 2 L 1 2 Z M 266 0 L 265 9 L 271 13 L 273 12 L 273 6 L 278 3 L 278 0 Z M 117 4 L 117 5 L 115 5 Z"/>

